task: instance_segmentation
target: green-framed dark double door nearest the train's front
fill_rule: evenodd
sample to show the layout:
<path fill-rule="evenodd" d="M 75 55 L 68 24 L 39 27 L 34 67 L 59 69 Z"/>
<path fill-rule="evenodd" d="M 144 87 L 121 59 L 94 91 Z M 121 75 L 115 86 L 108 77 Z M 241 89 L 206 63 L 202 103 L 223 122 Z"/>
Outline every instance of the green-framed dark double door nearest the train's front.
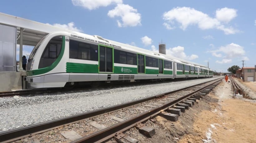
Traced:
<path fill-rule="evenodd" d="M 113 49 L 100 45 L 99 72 L 113 72 Z"/>

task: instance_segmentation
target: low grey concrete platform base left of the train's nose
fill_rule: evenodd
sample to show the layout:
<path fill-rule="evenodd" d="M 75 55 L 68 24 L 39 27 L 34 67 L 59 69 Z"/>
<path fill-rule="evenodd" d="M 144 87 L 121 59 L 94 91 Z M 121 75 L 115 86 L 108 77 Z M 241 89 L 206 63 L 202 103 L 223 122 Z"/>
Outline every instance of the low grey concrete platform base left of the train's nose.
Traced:
<path fill-rule="evenodd" d="M 0 72 L 0 92 L 22 89 L 23 77 L 26 77 L 25 71 Z"/>

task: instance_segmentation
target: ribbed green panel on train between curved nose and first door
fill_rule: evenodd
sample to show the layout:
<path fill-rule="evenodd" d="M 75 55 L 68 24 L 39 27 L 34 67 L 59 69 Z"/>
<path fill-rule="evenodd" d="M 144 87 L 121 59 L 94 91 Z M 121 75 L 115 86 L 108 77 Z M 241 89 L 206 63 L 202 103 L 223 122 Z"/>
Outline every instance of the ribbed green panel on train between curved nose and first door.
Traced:
<path fill-rule="evenodd" d="M 66 63 L 67 73 L 98 73 L 98 64 Z"/>

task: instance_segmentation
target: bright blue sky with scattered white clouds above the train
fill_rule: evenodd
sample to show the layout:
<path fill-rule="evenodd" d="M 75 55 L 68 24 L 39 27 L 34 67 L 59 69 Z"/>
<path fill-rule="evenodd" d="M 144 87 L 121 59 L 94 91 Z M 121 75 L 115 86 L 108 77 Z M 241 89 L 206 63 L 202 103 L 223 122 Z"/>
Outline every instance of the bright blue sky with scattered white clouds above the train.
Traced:
<path fill-rule="evenodd" d="M 256 1 L 2 0 L 0 12 L 69 28 L 227 72 L 256 64 Z M 19 46 L 17 46 L 19 50 Z M 32 47 L 25 46 L 23 54 Z"/>

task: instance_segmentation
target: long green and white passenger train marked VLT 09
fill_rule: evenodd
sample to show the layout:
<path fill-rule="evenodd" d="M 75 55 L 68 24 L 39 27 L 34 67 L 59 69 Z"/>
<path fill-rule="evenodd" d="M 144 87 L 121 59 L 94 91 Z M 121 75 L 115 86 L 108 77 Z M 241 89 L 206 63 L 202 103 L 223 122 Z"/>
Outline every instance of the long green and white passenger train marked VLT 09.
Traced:
<path fill-rule="evenodd" d="M 210 69 L 142 52 L 131 45 L 61 31 L 52 32 L 37 43 L 26 70 L 28 88 L 213 76 Z"/>

